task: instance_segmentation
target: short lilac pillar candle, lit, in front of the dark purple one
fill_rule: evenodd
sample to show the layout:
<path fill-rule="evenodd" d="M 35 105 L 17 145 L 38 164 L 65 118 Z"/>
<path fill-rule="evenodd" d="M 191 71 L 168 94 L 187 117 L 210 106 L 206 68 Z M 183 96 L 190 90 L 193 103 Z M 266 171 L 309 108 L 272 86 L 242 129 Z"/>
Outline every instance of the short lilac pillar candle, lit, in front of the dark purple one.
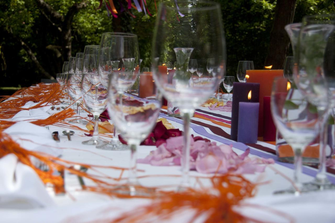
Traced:
<path fill-rule="evenodd" d="M 239 129 L 237 141 L 242 143 L 256 143 L 258 133 L 258 102 L 240 102 Z"/>

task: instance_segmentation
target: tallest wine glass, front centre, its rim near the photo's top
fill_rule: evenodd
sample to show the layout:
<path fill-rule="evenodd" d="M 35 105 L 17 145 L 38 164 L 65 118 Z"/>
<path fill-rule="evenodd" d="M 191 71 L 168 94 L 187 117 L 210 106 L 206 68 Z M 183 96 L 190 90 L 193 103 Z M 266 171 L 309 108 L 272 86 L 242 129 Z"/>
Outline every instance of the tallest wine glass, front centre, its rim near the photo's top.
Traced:
<path fill-rule="evenodd" d="M 176 17 L 176 14 L 179 15 Z M 200 19 L 201 18 L 201 19 Z M 160 4 L 152 43 L 152 71 L 157 88 L 164 97 L 176 104 L 184 120 L 182 151 L 183 190 L 189 187 L 190 118 L 196 106 L 202 104 L 224 76 L 225 40 L 220 6 L 212 2 L 178 1 Z M 206 33 L 206 34 L 204 34 Z M 173 49 L 173 50 L 172 50 Z M 207 70 L 215 75 L 192 83 L 188 71 L 189 58 L 207 60 Z M 210 59 L 207 59 L 210 58 Z M 164 61 L 177 61 L 172 83 L 158 72 Z M 198 64 L 205 66 L 205 64 Z"/>

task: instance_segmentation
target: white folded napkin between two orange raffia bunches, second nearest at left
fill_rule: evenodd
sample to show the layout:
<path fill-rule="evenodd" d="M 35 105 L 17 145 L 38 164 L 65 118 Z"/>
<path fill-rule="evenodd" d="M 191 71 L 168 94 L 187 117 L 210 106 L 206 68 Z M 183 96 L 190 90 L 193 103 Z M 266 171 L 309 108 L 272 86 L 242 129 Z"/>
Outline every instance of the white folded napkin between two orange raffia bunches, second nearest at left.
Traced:
<path fill-rule="evenodd" d="M 51 132 L 44 127 L 29 122 L 18 122 L 4 132 L 27 150 L 45 152 L 53 156 L 62 154 L 62 150 L 56 148 L 57 143 L 52 139 Z"/>

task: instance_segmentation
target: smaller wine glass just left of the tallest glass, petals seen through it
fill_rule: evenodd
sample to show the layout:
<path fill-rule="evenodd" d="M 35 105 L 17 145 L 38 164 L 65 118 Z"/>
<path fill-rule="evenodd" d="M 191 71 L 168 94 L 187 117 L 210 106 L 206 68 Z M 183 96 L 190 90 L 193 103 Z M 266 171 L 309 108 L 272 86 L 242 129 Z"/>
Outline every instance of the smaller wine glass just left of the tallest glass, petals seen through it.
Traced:
<path fill-rule="evenodd" d="M 113 73 L 112 76 L 114 75 Z M 150 74 L 141 73 L 140 78 L 143 75 Z M 118 83 L 117 78 L 119 77 L 120 75 L 116 74 L 113 80 Z M 161 107 L 161 96 L 151 92 L 151 94 L 146 94 L 144 98 L 136 97 L 137 103 L 127 103 L 128 95 L 121 94 L 120 97 L 120 91 L 111 82 L 108 99 L 108 110 L 113 113 L 114 125 L 120 130 L 131 150 L 128 182 L 115 188 L 115 192 L 131 196 L 149 195 L 149 191 L 140 186 L 136 176 L 137 146 L 149 135 L 156 124 Z"/>

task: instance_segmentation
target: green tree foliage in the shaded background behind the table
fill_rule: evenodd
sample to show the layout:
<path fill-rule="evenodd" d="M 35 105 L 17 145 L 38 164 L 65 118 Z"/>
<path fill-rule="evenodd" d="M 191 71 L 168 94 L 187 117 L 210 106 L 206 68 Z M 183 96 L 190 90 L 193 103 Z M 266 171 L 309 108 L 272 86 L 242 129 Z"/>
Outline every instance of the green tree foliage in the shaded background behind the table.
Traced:
<path fill-rule="evenodd" d="M 45 0 L 58 13 L 65 15 L 70 6 L 82 0 Z M 236 75 L 239 60 L 253 60 L 256 69 L 263 67 L 269 34 L 272 28 L 275 0 L 215 0 L 220 3 L 227 43 L 227 74 Z M 124 2 L 124 1 L 122 1 Z M 160 0 L 156 1 L 157 3 Z M 83 52 L 85 45 L 98 45 L 103 32 L 122 30 L 138 35 L 142 67 L 150 66 L 151 41 L 156 19 L 153 0 L 147 0 L 153 16 L 131 9 L 120 14 L 122 27 L 113 27 L 113 16 L 107 16 L 105 5 L 97 10 L 99 0 L 86 0 L 72 22 L 72 56 Z M 114 0 L 119 9 L 118 1 Z M 53 25 L 36 5 L 36 0 L 0 1 L 1 86 L 29 86 L 39 82 L 42 75 L 32 64 L 21 45 L 7 32 L 22 39 L 34 52 L 43 68 L 54 75 L 60 72 L 63 60 L 57 58 L 48 45 L 59 43 L 57 25 Z M 307 14 L 334 13 L 333 0 L 298 0 L 294 21 L 301 21 Z M 6 64 L 6 66 L 4 66 Z"/>

